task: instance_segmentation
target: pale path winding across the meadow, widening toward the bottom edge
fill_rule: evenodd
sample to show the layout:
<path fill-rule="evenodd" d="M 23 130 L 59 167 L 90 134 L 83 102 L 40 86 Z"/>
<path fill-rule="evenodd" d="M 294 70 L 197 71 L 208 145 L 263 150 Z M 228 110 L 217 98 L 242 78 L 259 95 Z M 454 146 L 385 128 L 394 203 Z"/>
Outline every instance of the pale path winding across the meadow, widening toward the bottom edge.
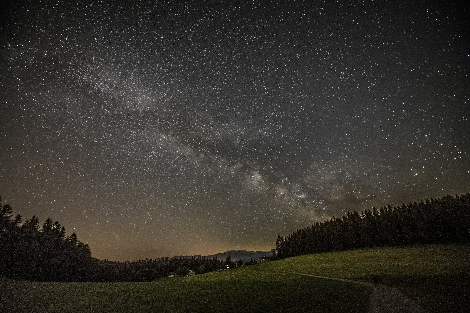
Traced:
<path fill-rule="evenodd" d="M 392 287 L 374 287 L 374 285 L 370 282 L 352 281 L 349 279 L 317 276 L 295 272 L 282 272 L 294 275 L 304 275 L 316 278 L 331 279 L 334 281 L 351 282 L 373 287 L 374 290 L 370 294 L 369 313 L 428 313 L 426 310 L 424 310 L 421 305 L 418 305 L 416 302 L 414 302 L 410 298 L 407 298 L 404 294 Z"/>

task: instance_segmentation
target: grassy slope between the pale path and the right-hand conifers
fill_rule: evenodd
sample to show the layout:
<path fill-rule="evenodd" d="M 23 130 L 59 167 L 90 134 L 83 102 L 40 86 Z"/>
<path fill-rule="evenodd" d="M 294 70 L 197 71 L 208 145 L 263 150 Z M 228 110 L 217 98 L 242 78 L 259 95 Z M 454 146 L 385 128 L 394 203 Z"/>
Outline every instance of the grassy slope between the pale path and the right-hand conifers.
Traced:
<path fill-rule="evenodd" d="M 302 255 L 264 264 L 297 272 L 394 287 L 430 312 L 467 312 L 470 246 L 429 244 Z"/>

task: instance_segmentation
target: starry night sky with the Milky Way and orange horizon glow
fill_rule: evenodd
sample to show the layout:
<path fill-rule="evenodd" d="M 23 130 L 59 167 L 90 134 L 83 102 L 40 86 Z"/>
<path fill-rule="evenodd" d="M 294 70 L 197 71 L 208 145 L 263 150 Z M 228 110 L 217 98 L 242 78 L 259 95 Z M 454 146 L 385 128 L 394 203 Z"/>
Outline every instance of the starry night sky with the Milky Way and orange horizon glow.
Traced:
<path fill-rule="evenodd" d="M 468 10 L 114 2 L 2 8 L 2 202 L 94 257 L 267 251 L 470 191 Z"/>

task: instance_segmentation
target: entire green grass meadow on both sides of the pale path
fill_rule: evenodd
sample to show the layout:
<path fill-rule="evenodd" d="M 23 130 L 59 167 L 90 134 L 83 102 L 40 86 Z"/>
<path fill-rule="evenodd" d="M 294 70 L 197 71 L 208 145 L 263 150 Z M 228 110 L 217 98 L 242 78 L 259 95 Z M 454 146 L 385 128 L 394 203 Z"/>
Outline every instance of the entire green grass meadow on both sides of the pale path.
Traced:
<path fill-rule="evenodd" d="M 397 288 L 430 312 L 467 312 L 469 248 L 420 245 L 328 252 L 155 282 L 3 280 L 0 310 L 367 312 L 370 287 L 282 272 L 289 271 L 362 281 L 375 273 L 379 283 Z"/>

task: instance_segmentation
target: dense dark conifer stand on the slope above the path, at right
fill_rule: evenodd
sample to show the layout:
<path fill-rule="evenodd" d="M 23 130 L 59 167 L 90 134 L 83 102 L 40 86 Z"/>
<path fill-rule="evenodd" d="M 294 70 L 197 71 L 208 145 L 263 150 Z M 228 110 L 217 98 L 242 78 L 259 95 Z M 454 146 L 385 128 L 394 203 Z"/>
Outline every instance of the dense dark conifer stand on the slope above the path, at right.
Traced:
<path fill-rule="evenodd" d="M 326 251 L 470 241 L 470 194 L 348 212 L 277 237 L 276 258 Z"/>

